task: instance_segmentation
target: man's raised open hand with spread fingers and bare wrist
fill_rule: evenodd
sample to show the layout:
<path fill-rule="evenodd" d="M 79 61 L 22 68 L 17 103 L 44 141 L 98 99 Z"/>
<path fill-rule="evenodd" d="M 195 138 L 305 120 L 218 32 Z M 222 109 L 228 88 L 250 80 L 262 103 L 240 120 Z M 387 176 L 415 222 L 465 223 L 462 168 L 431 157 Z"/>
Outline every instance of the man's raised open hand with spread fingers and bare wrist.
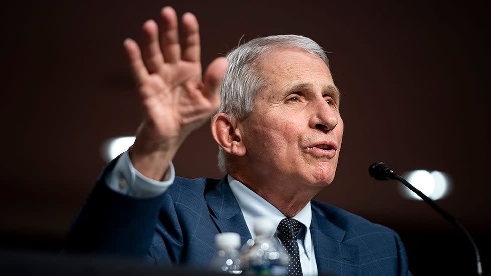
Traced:
<path fill-rule="evenodd" d="M 141 50 L 126 39 L 124 47 L 136 79 L 143 122 L 130 149 L 133 166 L 160 180 L 182 142 L 219 107 L 219 89 L 226 59 L 216 58 L 201 74 L 199 27 L 194 15 L 181 18 L 170 7 L 161 11 L 162 30 L 149 20 L 143 25 Z"/>

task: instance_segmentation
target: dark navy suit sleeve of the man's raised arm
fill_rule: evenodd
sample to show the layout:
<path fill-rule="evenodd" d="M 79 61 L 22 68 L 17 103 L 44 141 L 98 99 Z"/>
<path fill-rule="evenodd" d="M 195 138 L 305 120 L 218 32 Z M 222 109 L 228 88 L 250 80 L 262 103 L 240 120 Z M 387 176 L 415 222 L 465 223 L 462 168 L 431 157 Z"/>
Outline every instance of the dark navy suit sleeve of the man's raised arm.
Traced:
<path fill-rule="evenodd" d="M 164 194 L 135 198 L 117 193 L 107 185 L 113 160 L 73 223 L 64 252 L 145 257 L 155 233 Z"/>

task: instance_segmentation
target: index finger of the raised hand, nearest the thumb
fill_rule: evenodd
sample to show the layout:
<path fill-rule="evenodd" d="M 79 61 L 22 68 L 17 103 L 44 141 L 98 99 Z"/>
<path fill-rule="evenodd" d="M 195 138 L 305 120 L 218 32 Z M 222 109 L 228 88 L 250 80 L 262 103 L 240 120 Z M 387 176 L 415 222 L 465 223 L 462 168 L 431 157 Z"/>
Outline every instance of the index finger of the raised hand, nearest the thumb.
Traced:
<path fill-rule="evenodd" d="M 196 17 L 191 13 L 185 13 L 182 16 L 182 60 L 199 62 L 199 24 Z"/>

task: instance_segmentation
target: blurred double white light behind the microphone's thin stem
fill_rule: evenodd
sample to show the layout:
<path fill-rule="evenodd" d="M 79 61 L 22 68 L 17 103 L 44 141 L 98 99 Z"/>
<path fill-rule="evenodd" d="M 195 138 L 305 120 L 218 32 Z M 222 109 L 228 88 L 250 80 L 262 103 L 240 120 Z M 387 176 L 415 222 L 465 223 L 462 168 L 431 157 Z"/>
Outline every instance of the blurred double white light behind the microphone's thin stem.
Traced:
<path fill-rule="evenodd" d="M 415 170 L 404 173 L 402 177 L 433 200 L 441 199 L 450 192 L 450 177 L 439 171 Z M 402 184 L 399 185 L 399 190 L 406 198 L 422 200 L 416 193 Z"/>

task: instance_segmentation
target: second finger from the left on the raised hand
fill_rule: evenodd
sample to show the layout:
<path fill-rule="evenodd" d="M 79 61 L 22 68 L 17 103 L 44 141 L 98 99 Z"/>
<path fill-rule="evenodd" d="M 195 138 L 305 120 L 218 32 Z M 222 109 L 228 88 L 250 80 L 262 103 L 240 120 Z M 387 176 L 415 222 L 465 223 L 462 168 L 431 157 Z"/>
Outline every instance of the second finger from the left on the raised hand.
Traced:
<path fill-rule="evenodd" d="M 162 51 L 158 41 L 158 27 L 155 21 L 148 20 L 143 24 L 143 61 L 149 73 L 155 73 L 164 65 Z"/>

